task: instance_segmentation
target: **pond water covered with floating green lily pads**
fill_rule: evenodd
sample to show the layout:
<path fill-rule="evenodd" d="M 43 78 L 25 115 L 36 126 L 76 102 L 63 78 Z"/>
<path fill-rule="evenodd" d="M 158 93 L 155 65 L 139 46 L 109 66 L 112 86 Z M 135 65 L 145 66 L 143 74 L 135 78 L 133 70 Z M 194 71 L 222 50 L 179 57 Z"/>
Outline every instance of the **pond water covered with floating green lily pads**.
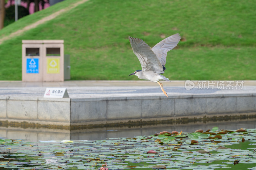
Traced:
<path fill-rule="evenodd" d="M 256 169 L 256 129 L 178 133 L 92 141 L 0 139 L 0 170 Z"/>

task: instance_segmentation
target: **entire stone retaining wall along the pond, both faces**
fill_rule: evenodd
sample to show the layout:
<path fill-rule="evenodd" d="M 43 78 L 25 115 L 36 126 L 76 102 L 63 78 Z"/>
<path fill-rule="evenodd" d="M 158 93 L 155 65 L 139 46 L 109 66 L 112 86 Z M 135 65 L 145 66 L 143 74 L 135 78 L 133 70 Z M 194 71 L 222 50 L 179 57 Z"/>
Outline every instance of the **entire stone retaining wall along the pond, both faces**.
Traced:
<path fill-rule="evenodd" d="M 256 93 L 104 98 L 0 97 L 0 120 L 83 126 L 256 113 Z"/>

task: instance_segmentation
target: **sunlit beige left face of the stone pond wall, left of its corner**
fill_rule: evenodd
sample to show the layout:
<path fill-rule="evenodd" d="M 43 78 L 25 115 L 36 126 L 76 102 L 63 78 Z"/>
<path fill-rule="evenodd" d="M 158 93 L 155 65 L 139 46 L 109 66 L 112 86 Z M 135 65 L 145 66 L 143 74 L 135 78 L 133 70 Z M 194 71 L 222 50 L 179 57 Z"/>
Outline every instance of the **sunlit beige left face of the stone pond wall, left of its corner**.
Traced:
<path fill-rule="evenodd" d="M 70 125 L 70 99 L 31 96 L 0 98 L 0 118 L 9 122 Z"/>

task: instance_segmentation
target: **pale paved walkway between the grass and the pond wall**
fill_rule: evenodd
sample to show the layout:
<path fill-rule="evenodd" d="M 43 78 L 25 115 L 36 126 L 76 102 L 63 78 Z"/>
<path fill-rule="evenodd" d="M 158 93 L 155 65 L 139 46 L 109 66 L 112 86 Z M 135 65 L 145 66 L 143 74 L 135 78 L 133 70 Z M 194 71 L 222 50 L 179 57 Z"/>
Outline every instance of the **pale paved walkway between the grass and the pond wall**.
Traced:
<path fill-rule="evenodd" d="M 164 90 L 172 95 L 204 95 L 204 94 L 238 94 L 255 93 L 256 81 L 244 81 L 243 88 L 226 89 L 228 82 L 225 82 L 223 90 L 217 87 L 215 81 L 214 89 L 197 89 L 199 81 L 193 81 L 195 87 L 191 90 L 185 89 L 185 81 L 162 82 Z M 0 81 L 0 96 L 2 97 L 43 97 L 46 87 L 65 87 L 70 98 L 99 98 L 99 97 L 128 97 L 128 96 L 164 96 L 158 84 L 150 81 L 108 81 L 108 80 L 84 80 L 64 82 L 21 82 L 21 81 Z M 201 86 L 202 87 L 202 86 Z"/>

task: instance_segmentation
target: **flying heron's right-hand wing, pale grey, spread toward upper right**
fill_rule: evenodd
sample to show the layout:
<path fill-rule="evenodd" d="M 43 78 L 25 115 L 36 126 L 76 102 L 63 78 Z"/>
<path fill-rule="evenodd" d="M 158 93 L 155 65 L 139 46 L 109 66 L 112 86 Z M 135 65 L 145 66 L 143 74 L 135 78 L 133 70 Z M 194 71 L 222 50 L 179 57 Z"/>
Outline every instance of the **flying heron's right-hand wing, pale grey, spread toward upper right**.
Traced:
<path fill-rule="evenodd" d="M 180 39 L 180 34 L 176 33 L 160 41 L 152 48 L 152 51 L 156 54 L 163 66 L 166 63 L 167 52 L 176 47 Z"/>

